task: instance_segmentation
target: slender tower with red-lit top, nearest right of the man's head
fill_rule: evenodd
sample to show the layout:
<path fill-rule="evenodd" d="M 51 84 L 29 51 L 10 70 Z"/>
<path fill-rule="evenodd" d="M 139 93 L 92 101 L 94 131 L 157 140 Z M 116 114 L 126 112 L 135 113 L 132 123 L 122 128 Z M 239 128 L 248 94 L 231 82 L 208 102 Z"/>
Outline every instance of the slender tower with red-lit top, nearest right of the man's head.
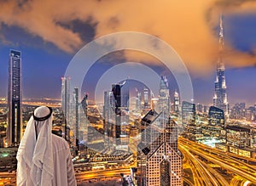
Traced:
<path fill-rule="evenodd" d="M 67 125 L 71 124 L 71 90 L 70 77 L 61 77 L 61 108 Z"/>

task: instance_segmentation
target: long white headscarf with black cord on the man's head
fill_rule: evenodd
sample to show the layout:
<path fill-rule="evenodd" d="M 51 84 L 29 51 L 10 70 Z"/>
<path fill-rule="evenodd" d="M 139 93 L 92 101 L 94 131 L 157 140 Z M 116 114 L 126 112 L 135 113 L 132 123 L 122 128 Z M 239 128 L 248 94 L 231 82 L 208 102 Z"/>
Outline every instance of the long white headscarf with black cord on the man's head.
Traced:
<path fill-rule="evenodd" d="M 45 120 L 42 121 L 42 118 Z M 38 119 L 40 121 L 37 121 Z M 27 183 L 35 186 L 52 185 L 54 163 L 51 129 L 52 110 L 46 106 L 38 107 L 27 122 L 26 131 L 18 149 L 18 186 L 27 185 Z"/>

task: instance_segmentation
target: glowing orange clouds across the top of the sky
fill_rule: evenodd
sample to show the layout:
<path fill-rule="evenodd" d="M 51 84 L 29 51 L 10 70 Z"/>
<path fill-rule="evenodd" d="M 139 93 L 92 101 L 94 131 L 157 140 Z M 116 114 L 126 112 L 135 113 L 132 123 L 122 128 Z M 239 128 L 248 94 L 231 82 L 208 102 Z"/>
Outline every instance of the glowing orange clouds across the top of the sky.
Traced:
<path fill-rule="evenodd" d="M 218 59 L 218 32 L 214 28 L 218 26 L 219 13 L 244 14 L 256 9 L 253 0 L 0 0 L 0 3 L 1 23 L 20 26 L 67 53 L 74 54 L 84 41 L 78 32 L 60 23 L 90 20 L 95 26 L 95 37 L 116 31 L 142 31 L 160 37 L 175 48 L 192 73 L 200 76 L 209 74 Z M 255 64 L 255 55 L 237 51 L 229 43 L 225 48 L 228 66 Z M 125 57 L 129 61 L 143 57 L 154 63 L 152 57 L 137 53 L 125 53 Z"/>

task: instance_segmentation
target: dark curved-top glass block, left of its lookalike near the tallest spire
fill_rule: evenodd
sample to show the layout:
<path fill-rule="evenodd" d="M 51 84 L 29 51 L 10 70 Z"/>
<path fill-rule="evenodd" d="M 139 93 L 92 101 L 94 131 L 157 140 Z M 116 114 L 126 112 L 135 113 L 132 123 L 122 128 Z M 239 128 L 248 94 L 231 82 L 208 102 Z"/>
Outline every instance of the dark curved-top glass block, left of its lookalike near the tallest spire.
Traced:
<path fill-rule="evenodd" d="M 194 124 L 195 123 L 195 104 L 183 101 L 182 104 L 182 123 Z"/>

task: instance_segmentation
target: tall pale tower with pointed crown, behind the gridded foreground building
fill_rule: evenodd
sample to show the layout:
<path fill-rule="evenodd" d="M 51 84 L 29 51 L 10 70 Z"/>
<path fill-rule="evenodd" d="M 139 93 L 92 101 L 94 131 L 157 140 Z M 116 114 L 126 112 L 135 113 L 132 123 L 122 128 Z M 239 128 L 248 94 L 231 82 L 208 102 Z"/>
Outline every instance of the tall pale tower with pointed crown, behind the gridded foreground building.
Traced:
<path fill-rule="evenodd" d="M 170 115 L 170 94 L 166 76 L 161 76 L 159 90 L 159 112 L 163 112 L 163 117 L 168 118 Z"/>

